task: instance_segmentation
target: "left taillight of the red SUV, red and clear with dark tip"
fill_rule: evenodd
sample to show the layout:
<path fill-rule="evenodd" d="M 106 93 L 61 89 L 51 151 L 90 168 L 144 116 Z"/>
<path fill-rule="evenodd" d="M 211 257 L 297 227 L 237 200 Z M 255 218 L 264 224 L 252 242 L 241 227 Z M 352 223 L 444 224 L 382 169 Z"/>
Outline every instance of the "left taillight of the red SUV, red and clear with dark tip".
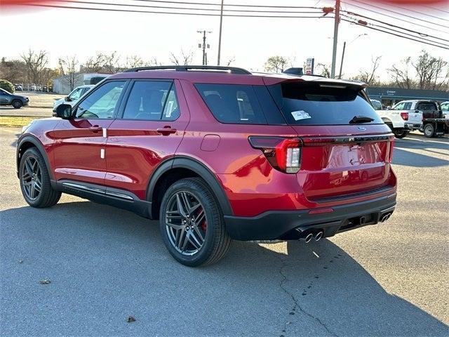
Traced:
<path fill-rule="evenodd" d="M 300 138 L 250 136 L 250 145 L 263 152 L 274 169 L 285 173 L 297 173 L 301 166 Z"/>

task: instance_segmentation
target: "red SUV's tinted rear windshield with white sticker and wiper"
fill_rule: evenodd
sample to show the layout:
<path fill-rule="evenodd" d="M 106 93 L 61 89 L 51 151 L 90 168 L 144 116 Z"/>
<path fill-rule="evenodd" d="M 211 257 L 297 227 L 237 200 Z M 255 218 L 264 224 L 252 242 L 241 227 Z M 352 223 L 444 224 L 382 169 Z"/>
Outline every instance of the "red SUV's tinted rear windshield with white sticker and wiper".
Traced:
<path fill-rule="evenodd" d="M 383 123 L 356 86 L 288 82 L 268 88 L 291 125 L 345 125 L 354 117 L 373 119 L 363 124 Z"/>

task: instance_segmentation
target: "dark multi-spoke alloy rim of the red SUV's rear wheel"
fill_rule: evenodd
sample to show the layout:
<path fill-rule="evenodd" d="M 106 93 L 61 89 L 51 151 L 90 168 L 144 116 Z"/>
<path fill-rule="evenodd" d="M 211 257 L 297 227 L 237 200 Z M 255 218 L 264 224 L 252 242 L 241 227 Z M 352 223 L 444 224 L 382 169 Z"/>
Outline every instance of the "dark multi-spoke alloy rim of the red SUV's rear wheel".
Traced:
<path fill-rule="evenodd" d="M 196 197 L 187 191 L 173 194 L 168 200 L 165 222 L 173 248 L 185 256 L 193 256 L 206 239 L 206 213 Z"/>

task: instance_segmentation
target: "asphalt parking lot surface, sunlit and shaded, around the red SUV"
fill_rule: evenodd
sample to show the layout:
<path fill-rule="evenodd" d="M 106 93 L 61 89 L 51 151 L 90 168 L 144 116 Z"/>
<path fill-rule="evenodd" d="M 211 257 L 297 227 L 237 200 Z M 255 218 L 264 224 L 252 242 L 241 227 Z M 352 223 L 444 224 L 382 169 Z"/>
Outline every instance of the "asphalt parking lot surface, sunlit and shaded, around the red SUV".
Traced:
<path fill-rule="evenodd" d="M 234 242 L 194 269 L 133 213 L 68 195 L 27 206 L 18 132 L 0 128 L 1 336 L 449 336 L 449 138 L 396 141 L 387 223 Z"/>

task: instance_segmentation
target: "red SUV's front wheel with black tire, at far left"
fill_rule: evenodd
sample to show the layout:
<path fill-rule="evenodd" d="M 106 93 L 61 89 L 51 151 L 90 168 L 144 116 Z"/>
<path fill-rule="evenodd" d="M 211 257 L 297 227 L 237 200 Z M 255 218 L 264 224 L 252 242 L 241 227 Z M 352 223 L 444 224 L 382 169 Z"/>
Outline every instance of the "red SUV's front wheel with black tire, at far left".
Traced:
<path fill-rule="evenodd" d="M 34 163 L 31 171 L 34 172 L 34 168 L 37 167 L 36 173 L 30 173 L 29 163 Z M 34 176 L 34 178 L 32 176 Z M 61 197 L 61 192 L 55 191 L 51 187 L 47 166 L 41 153 L 36 149 L 36 147 L 29 148 L 22 155 L 19 165 L 19 179 L 20 190 L 22 190 L 22 195 L 29 206 L 44 208 L 51 207 L 58 203 Z M 40 185 L 39 192 L 36 194 L 36 185 L 32 190 L 33 192 L 30 192 L 31 187 L 29 187 L 29 185 L 36 184 L 38 181 Z"/>

